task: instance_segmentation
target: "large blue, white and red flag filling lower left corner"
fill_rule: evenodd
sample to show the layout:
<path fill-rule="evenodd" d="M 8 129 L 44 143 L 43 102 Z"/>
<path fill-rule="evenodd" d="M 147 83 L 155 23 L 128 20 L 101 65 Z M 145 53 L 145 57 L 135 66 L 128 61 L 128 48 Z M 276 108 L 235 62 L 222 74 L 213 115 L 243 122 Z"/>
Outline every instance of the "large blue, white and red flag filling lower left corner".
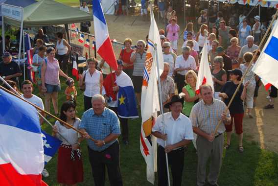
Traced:
<path fill-rule="evenodd" d="M 41 175 L 44 143 L 36 109 L 3 90 L 0 105 L 0 185 L 47 186 Z"/>

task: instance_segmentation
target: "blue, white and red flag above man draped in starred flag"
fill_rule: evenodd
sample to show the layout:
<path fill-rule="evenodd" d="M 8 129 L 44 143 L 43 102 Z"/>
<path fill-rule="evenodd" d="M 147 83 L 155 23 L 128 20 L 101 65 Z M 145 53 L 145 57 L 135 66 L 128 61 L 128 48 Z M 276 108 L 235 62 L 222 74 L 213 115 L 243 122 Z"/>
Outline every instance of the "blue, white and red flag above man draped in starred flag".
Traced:
<path fill-rule="evenodd" d="M 109 37 L 100 0 L 93 0 L 93 24 L 97 53 L 113 70 L 117 70 L 116 56 Z"/>

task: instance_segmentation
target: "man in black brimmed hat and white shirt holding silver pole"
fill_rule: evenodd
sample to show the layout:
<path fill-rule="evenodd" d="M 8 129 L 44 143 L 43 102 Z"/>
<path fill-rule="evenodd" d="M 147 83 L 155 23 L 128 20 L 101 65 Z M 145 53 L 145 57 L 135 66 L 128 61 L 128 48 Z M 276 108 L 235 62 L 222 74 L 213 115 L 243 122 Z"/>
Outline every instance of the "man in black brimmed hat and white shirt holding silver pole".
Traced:
<path fill-rule="evenodd" d="M 165 105 L 171 112 L 165 113 L 163 131 L 162 115 L 158 116 L 152 134 L 157 137 L 158 147 L 158 186 L 168 186 L 165 153 L 171 168 L 173 186 L 182 185 L 184 169 L 185 145 L 193 140 L 192 124 L 188 117 L 181 114 L 184 98 L 174 95 Z M 166 141 L 166 146 L 164 141 Z"/>

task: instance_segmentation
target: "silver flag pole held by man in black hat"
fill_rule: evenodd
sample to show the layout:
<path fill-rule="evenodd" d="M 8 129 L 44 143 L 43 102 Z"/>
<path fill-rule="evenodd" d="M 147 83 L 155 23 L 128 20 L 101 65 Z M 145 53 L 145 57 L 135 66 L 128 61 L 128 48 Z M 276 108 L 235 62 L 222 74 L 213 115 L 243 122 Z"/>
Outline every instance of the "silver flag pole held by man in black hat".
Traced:
<path fill-rule="evenodd" d="M 158 54 L 157 54 L 157 44 L 154 44 L 155 54 L 156 54 L 156 64 L 157 64 L 157 75 L 158 75 L 158 89 L 159 89 L 159 100 L 160 100 L 160 113 L 162 117 L 162 126 L 163 126 L 163 133 L 165 134 L 165 121 L 164 121 L 164 113 L 163 113 L 163 103 L 162 103 L 162 91 L 161 91 L 161 81 L 160 81 L 160 72 L 159 72 L 159 62 L 158 62 Z M 166 141 L 164 141 L 164 147 L 166 147 Z M 168 163 L 168 154 L 165 152 L 166 158 L 166 168 L 167 168 L 167 178 L 168 178 L 168 186 L 170 184 L 170 174 L 169 174 L 169 163 Z"/>

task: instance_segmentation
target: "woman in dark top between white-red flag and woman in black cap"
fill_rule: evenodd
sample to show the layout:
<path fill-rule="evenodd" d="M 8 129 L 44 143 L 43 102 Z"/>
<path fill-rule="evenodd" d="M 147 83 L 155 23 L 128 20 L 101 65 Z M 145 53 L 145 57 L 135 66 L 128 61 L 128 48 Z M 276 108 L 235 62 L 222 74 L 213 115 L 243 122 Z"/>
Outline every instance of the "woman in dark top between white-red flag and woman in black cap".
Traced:
<path fill-rule="evenodd" d="M 220 99 L 218 94 L 221 92 L 227 81 L 227 73 L 223 67 L 223 57 L 216 56 L 214 58 L 214 68 L 211 69 L 212 80 L 214 82 L 214 97 L 216 99 Z"/>

